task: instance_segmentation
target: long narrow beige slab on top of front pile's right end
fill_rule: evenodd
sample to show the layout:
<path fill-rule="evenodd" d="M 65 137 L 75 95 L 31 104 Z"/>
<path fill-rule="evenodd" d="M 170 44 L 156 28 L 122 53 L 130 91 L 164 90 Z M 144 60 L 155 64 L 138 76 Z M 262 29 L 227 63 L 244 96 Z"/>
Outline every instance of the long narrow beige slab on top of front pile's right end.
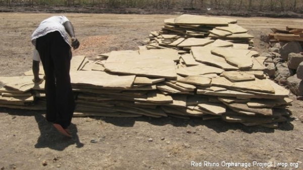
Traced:
<path fill-rule="evenodd" d="M 267 79 L 255 79 L 254 81 L 243 81 L 243 82 L 231 82 L 225 77 L 217 77 L 212 79 L 212 85 L 218 87 L 226 87 L 228 89 L 243 89 L 249 91 L 257 91 L 263 93 L 275 93 L 275 89 L 269 83 Z"/>

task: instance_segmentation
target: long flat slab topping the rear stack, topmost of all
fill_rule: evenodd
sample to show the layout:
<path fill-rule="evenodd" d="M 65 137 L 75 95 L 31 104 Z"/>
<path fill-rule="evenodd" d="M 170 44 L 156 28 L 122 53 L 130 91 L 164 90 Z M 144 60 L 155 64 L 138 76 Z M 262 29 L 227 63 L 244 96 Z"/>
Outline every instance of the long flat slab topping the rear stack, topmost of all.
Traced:
<path fill-rule="evenodd" d="M 175 24 L 199 24 L 199 25 L 222 25 L 227 26 L 228 22 L 221 18 L 205 17 L 198 15 L 183 14 L 174 21 Z"/>

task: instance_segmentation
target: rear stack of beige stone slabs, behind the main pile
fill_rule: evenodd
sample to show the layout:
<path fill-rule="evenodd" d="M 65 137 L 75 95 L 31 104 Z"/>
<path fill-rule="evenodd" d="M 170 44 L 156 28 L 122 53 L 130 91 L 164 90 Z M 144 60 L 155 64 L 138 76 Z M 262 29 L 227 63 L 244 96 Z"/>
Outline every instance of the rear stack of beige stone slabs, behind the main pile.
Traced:
<path fill-rule="evenodd" d="M 192 46 L 205 46 L 220 39 L 231 42 L 229 45 L 238 43 L 235 48 L 250 49 L 254 36 L 236 23 L 235 19 L 184 14 L 165 20 L 160 31 L 150 32 L 146 47 L 174 48 L 188 53 Z M 248 45 L 242 46 L 243 43 Z"/>

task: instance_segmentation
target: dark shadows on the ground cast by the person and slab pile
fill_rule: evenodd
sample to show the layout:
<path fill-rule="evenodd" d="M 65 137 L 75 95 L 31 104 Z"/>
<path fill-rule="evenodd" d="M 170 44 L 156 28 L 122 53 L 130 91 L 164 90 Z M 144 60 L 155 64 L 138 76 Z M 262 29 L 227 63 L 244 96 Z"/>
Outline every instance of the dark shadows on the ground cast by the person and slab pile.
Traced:
<path fill-rule="evenodd" d="M 70 139 L 61 135 L 51 123 L 45 121 L 42 114 L 44 111 L 33 111 L 33 110 L 20 110 L 20 109 L 7 109 L 0 108 L 0 112 L 7 112 L 9 115 L 14 116 L 34 116 L 40 130 L 40 137 L 35 144 L 36 148 L 51 148 L 55 150 L 64 150 L 69 145 L 76 144 L 76 147 L 82 147 L 79 137 L 77 135 L 77 126 L 71 124 L 69 129 L 72 132 L 73 138 Z M 287 122 L 279 123 L 277 129 L 265 128 L 261 126 L 247 127 L 239 123 L 227 123 L 220 119 L 203 121 L 201 118 L 190 118 L 189 120 L 173 118 L 173 117 L 162 117 L 162 118 L 151 118 L 151 117 L 138 117 L 138 118 L 111 118 L 111 117 L 90 117 L 95 120 L 101 120 L 106 123 L 113 124 L 119 127 L 133 127 L 135 122 L 147 122 L 155 126 L 172 125 L 175 127 L 197 127 L 206 126 L 214 130 L 217 133 L 227 132 L 229 130 L 240 130 L 244 133 L 274 133 L 276 130 L 280 131 L 291 131 L 293 125 L 291 122 L 293 119 L 288 118 Z"/>

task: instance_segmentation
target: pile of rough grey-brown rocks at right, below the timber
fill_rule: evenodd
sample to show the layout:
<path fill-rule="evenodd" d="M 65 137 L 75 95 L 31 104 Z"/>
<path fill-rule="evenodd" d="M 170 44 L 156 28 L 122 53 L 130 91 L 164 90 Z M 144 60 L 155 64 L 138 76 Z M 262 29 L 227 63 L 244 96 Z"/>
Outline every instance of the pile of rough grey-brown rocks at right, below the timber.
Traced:
<path fill-rule="evenodd" d="M 273 36 L 269 37 L 272 38 L 270 39 L 270 52 L 261 54 L 267 56 L 267 59 L 264 61 L 264 65 L 267 67 L 266 73 L 278 84 L 287 86 L 298 99 L 303 99 L 302 43 L 292 40 L 282 41 Z"/>

